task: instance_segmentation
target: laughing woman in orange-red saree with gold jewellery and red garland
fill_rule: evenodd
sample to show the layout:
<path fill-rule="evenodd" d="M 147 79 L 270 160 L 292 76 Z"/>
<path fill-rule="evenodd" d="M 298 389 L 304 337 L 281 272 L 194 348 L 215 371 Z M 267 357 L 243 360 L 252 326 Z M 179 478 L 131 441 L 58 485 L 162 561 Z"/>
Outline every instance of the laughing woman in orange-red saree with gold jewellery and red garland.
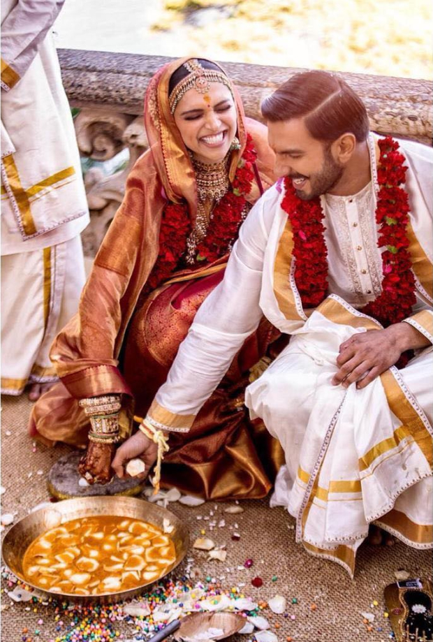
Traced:
<path fill-rule="evenodd" d="M 242 221 L 274 182 L 265 126 L 244 116 L 212 61 L 161 68 L 145 125 L 149 150 L 129 175 L 79 312 L 52 346 L 61 382 L 31 416 L 32 435 L 87 448 L 80 472 L 91 482 L 111 478 L 117 442 L 131 434 L 133 414 L 145 416 L 198 307 L 223 279 Z M 249 421 L 243 395 L 277 336 L 263 320 L 193 428 L 170 433 L 165 486 L 212 499 L 270 490 L 282 451 L 263 423 Z"/>

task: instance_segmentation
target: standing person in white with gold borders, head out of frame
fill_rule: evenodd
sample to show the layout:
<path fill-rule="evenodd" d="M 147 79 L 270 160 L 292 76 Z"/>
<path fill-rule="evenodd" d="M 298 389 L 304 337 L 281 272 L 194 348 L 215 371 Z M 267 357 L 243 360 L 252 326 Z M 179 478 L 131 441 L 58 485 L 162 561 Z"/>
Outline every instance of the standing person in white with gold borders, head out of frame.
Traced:
<path fill-rule="evenodd" d="M 63 0 L 1 0 L 1 392 L 36 400 L 85 282 L 89 212 L 50 32 Z M 51 384 L 52 385 L 52 384 Z"/>

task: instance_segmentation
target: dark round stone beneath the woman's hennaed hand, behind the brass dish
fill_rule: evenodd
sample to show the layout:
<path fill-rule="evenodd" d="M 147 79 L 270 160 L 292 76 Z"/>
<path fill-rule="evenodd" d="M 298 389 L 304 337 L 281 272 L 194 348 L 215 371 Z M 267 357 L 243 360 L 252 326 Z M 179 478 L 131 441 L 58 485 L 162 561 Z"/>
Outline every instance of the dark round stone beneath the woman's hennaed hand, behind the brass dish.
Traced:
<path fill-rule="evenodd" d="M 138 495 L 145 487 L 145 480 L 138 482 L 133 477 L 113 477 L 110 483 L 94 483 L 90 486 L 80 486 L 78 462 L 82 452 L 68 453 L 61 457 L 48 473 L 48 490 L 57 499 L 72 499 L 73 497 L 93 497 L 94 495 Z"/>

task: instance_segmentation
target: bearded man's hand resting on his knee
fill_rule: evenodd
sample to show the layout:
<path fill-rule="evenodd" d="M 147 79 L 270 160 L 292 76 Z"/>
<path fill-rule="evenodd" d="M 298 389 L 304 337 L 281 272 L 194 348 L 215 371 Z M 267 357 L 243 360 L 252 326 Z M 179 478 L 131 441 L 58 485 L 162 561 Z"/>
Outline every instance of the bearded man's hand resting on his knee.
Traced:
<path fill-rule="evenodd" d="M 395 365 L 402 352 L 429 344 L 429 340 L 409 323 L 395 323 L 386 330 L 357 333 L 339 348 L 339 370 L 332 378 L 332 384 L 348 388 L 356 382 L 358 389 L 365 388 Z"/>

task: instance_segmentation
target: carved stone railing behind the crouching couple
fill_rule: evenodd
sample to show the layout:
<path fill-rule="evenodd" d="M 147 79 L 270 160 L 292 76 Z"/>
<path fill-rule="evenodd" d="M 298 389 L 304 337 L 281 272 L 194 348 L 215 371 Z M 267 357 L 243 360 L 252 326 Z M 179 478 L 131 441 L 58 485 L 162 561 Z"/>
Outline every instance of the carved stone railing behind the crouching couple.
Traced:
<path fill-rule="evenodd" d="M 126 176 L 147 148 L 142 105 L 147 83 L 170 58 L 109 52 L 59 50 L 61 73 L 75 118 L 82 156 L 107 161 L 129 149 L 126 168 L 111 176 L 92 168 L 86 175 L 91 223 L 83 234 L 94 256 L 124 195 Z M 247 116 L 262 120 L 260 103 L 300 69 L 223 63 L 239 89 Z M 432 140 L 432 82 L 342 73 L 365 102 L 371 128 L 420 143 Z"/>

